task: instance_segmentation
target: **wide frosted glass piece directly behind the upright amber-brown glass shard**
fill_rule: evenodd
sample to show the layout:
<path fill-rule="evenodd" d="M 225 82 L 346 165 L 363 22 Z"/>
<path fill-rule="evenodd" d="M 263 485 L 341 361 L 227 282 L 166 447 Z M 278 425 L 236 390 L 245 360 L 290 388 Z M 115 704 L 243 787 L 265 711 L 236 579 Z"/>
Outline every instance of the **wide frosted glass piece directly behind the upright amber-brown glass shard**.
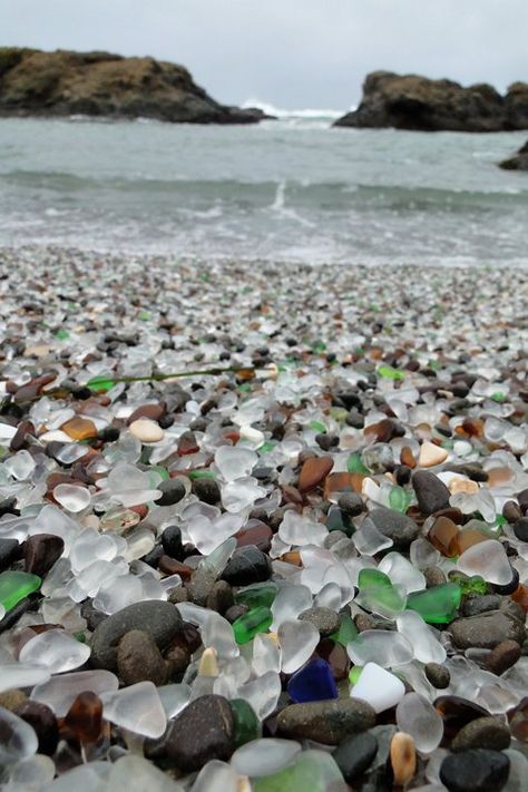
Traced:
<path fill-rule="evenodd" d="M 65 717 L 79 693 L 90 691 L 101 696 L 117 691 L 119 681 L 109 671 L 79 671 L 63 676 L 52 676 L 49 682 L 33 687 L 30 698 L 47 704 L 57 717 Z"/>

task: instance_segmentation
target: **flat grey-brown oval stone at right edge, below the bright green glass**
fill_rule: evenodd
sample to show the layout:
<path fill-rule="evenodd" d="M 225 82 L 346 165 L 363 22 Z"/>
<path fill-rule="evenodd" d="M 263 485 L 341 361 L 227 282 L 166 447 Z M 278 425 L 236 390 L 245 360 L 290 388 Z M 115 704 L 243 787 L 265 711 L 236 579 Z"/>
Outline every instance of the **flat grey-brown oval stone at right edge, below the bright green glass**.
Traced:
<path fill-rule="evenodd" d="M 492 649 L 503 641 L 525 641 L 525 626 L 500 610 L 490 610 L 480 616 L 467 616 L 451 622 L 449 632 L 459 649 L 478 647 Z"/>

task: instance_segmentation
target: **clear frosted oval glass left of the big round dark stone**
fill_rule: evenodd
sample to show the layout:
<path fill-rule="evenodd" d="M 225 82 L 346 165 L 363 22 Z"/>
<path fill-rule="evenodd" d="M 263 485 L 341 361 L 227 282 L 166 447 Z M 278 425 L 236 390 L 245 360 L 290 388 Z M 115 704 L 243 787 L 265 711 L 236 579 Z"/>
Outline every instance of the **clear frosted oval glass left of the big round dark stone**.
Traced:
<path fill-rule="evenodd" d="M 19 656 L 22 663 L 40 664 L 51 674 L 60 674 L 84 665 L 90 656 L 90 647 L 62 629 L 49 629 L 28 641 Z"/>

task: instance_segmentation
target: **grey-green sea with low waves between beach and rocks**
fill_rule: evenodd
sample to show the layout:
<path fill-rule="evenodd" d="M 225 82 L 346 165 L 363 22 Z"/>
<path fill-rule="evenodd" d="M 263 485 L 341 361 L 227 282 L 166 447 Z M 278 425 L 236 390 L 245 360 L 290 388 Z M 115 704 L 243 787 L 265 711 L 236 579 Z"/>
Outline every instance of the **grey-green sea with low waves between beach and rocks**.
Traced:
<path fill-rule="evenodd" d="M 528 264 L 526 133 L 0 119 L 0 245 L 380 266 Z"/>

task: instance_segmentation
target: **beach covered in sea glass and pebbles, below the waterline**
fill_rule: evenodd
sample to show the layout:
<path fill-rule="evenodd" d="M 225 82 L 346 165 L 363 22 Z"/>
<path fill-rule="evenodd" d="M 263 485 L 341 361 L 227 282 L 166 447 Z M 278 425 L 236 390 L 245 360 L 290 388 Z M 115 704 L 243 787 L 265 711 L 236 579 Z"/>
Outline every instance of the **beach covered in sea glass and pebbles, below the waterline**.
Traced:
<path fill-rule="evenodd" d="M 522 778 L 526 268 L 21 245 L 0 293 L 8 789 Z"/>

